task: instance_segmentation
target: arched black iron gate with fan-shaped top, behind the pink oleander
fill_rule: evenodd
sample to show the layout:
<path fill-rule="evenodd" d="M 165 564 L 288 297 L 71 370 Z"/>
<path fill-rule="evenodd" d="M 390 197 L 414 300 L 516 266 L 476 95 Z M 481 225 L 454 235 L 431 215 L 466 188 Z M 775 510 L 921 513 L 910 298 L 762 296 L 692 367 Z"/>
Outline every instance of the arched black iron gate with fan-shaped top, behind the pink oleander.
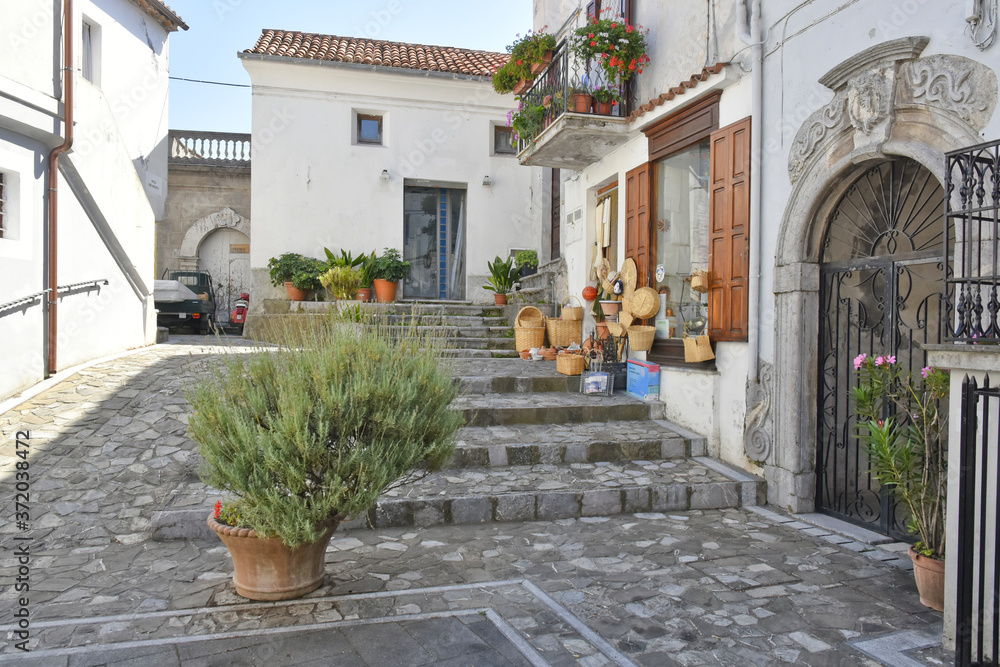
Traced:
<path fill-rule="evenodd" d="M 910 158 L 869 163 L 833 208 L 820 264 L 816 505 L 878 532 L 905 516 L 868 471 L 850 403 L 859 354 L 913 373 L 941 341 L 944 190 Z"/>

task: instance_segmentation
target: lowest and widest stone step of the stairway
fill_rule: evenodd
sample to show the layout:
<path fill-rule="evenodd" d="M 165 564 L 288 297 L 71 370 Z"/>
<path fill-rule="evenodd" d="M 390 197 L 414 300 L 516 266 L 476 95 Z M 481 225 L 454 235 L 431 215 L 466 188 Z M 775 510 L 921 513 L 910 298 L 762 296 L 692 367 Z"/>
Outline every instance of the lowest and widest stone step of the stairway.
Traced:
<path fill-rule="evenodd" d="M 555 521 L 756 505 L 762 480 L 738 481 L 697 459 L 449 470 L 383 495 L 349 528 Z"/>

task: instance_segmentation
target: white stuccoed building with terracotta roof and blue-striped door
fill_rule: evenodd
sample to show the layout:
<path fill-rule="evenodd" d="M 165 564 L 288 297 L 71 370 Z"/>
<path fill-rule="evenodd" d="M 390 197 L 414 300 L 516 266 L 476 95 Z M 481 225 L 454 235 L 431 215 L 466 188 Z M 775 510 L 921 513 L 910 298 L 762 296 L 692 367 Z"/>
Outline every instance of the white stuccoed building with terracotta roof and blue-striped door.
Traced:
<path fill-rule="evenodd" d="M 491 301 L 487 262 L 539 250 L 541 182 L 514 155 L 507 54 L 265 30 L 253 82 L 252 308 L 267 262 L 400 249 L 402 298 Z"/>

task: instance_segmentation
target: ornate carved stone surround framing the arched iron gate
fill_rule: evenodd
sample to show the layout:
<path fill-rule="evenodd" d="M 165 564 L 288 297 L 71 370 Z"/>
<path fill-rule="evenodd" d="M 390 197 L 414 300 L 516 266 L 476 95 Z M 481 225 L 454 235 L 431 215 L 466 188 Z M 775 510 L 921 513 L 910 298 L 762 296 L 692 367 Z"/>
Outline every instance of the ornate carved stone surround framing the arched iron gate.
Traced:
<path fill-rule="evenodd" d="M 913 158 L 944 182 L 944 153 L 982 141 L 997 76 L 955 55 L 921 58 L 927 37 L 884 42 L 820 79 L 833 100 L 799 129 L 788 156 L 792 191 L 775 251 L 774 442 L 768 501 L 811 512 L 816 495 L 819 259 L 830 214 L 873 160 Z M 942 223 L 943 224 L 943 223 Z"/>

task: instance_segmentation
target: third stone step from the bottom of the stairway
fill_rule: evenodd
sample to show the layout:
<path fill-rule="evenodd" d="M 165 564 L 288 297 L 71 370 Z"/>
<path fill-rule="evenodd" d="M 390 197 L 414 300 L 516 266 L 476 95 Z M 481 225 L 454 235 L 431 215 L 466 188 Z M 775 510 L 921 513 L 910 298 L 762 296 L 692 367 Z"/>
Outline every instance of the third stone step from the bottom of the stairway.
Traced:
<path fill-rule="evenodd" d="M 465 416 L 466 426 L 642 421 L 659 418 L 660 414 L 652 412 L 657 408 L 662 409 L 662 404 L 644 403 L 618 393 L 613 396 L 555 392 L 464 394 L 452 403 L 452 409 Z"/>

